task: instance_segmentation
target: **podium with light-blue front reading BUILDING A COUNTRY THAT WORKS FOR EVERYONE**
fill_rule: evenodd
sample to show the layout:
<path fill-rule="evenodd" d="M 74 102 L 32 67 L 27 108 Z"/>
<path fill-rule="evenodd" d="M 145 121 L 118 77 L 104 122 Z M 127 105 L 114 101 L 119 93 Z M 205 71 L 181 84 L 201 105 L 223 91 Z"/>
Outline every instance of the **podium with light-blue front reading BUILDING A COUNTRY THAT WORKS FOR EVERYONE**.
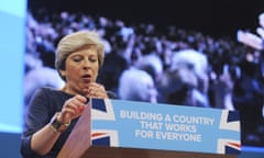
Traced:
<path fill-rule="evenodd" d="M 239 113 L 91 99 L 58 158 L 237 158 Z"/>

